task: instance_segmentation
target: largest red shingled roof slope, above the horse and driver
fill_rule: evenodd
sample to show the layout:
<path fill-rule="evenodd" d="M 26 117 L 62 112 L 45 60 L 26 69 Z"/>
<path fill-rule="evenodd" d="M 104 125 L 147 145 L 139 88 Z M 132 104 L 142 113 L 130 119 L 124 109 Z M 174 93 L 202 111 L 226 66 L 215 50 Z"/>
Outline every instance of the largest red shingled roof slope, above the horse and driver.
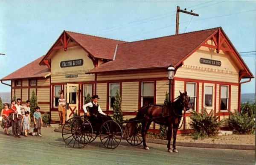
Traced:
<path fill-rule="evenodd" d="M 87 73 L 130 69 L 164 68 L 176 65 L 219 28 L 118 44 L 113 61 Z"/>

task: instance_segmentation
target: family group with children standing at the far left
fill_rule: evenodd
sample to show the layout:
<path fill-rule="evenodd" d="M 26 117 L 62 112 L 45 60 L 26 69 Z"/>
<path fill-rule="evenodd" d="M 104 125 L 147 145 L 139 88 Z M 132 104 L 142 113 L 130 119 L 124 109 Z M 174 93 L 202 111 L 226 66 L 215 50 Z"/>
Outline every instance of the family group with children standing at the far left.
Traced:
<path fill-rule="evenodd" d="M 19 137 L 21 133 L 24 136 L 28 136 L 30 129 L 30 101 L 27 100 L 25 105 L 21 105 L 21 99 L 17 98 L 17 100 L 12 100 L 12 103 L 9 107 L 8 103 L 4 103 L 4 108 L 1 111 L 2 119 L 2 127 L 4 129 L 4 133 L 9 135 L 8 128 L 12 127 L 12 134 L 14 137 Z M 37 136 L 41 136 L 41 124 L 43 124 L 43 120 L 40 113 L 40 107 L 35 108 L 35 113 L 33 113 L 33 122 L 35 129 L 33 130 L 32 136 L 35 136 L 37 132 Z"/>

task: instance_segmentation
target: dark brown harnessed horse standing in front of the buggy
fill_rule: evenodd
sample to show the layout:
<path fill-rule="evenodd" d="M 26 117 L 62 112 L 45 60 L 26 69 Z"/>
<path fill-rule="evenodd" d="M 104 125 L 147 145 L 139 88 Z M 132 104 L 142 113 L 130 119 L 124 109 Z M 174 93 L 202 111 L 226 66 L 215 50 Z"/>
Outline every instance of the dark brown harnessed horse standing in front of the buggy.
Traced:
<path fill-rule="evenodd" d="M 142 137 L 143 137 L 143 146 L 146 150 L 149 148 L 146 145 L 146 134 L 151 122 L 157 124 L 166 125 L 168 127 L 167 140 L 168 140 L 168 152 L 171 150 L 171 139 L 172 139 L 172 130 L 173 130 L 173 152 L 178 152 L 176 149 L 176 135 L 177 130 L 180 124 L 182 117 L 182 111 L 185 108 L 189 110 L 189 101 L 190 98 L 187 96 L 187 92 L 181 93 L 180 96 L 174 102 L 169 102 L 166 105 L 153 105 L 149 104 L 147 106 L 141 107 L 137 113 L 136 119 L 145 119 L 142 122 Z M 136 124 L 132 123 L 130 125 L 131 130 L 134 130 Z M 133 127 L 133 128 L 132 128 Z"/>

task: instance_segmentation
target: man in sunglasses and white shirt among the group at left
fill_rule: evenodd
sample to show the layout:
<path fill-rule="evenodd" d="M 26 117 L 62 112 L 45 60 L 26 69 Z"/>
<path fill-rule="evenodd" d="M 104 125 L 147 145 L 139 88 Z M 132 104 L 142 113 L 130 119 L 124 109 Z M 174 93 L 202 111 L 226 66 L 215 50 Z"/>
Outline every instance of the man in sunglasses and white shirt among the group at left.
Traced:
<path fill-rule="evenodd" d="M 21 99 L 17 98 L 16 100 L 16 104 L 14 105 L 16 107 L 16 111 L 15 113 L 18 114 L 18 118 L 17 115 L 14 116 L 15 121 L 12 121 L 12 133 L 14 135 L 14 137 L 19 137 L 20 138 L 20 132 L 21 132 L 21 119 L 22 119 L 22 109 L 23 107 L 20 105 L 21 104 Z"/>

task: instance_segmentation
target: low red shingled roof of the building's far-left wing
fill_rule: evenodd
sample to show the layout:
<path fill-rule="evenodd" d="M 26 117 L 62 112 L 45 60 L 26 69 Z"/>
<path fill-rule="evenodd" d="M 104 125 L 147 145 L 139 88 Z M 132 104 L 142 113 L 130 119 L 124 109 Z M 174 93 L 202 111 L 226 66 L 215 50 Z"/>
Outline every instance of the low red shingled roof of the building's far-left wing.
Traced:
<path fill-rule="evenodd" d="M 44 58 L 44 55 L 35 61 L 25 65 L 24 67 L 12 72 L 1 80 L 12 80 L 22 78 L 40 78 L 50 75 L 49 68 L 45 65 L 40 66 L 39 62 Z"/>

